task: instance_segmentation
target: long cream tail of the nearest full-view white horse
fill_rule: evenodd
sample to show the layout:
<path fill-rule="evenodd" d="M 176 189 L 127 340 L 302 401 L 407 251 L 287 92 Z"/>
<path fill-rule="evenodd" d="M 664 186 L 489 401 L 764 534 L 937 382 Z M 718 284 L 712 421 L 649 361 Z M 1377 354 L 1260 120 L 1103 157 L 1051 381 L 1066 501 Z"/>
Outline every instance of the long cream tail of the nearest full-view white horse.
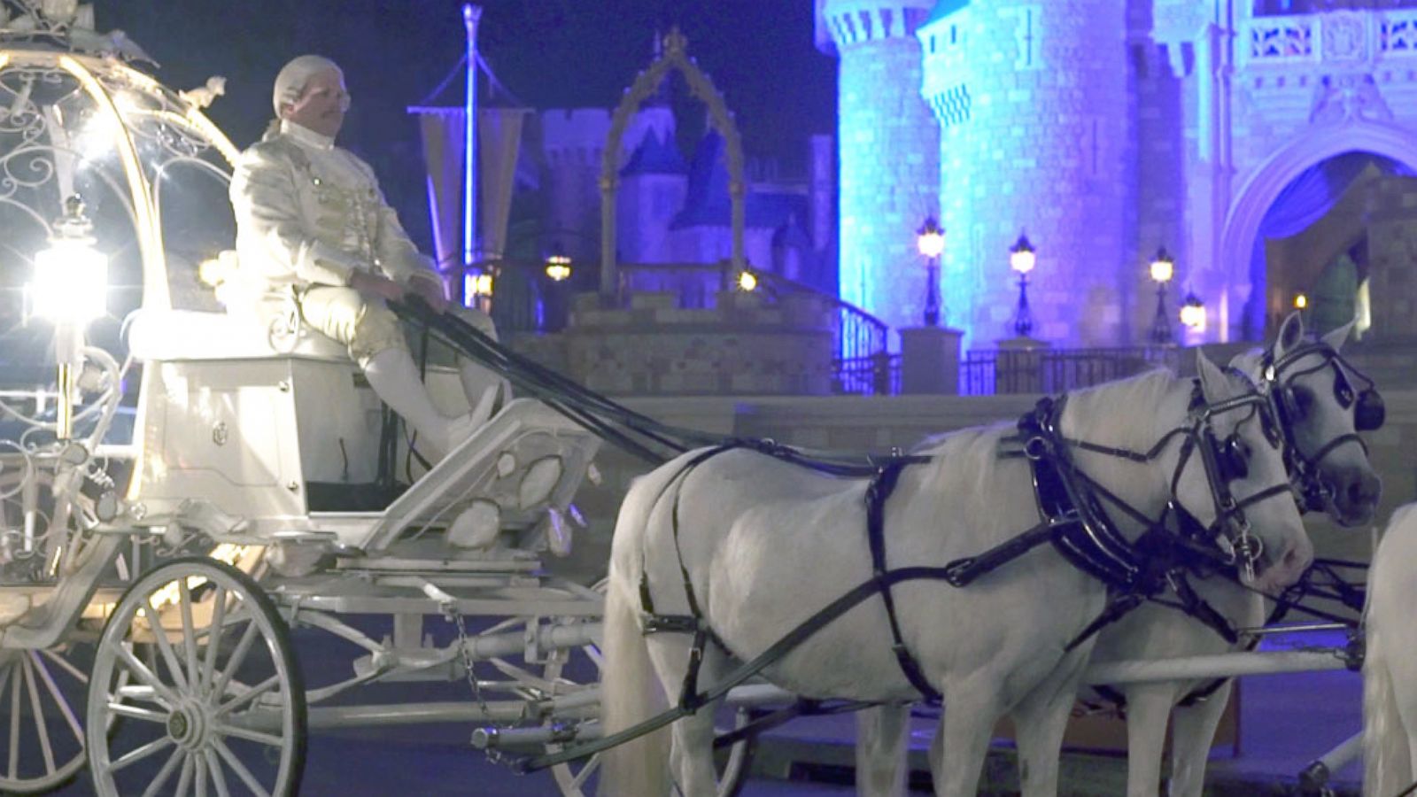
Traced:
<path fill-rule="evenodd" d="M 621 505 L 605 594 L 601 669 L 601 728 L 606 736 L 667 709 L 649 644 L 639 627 L 639 576 L 649 515 L 659 495 L 660 472 L 635 481 Z M 602 797 L 653 797 L 669 791 L 669 729 L 660 729 L 601 753 Z"/>

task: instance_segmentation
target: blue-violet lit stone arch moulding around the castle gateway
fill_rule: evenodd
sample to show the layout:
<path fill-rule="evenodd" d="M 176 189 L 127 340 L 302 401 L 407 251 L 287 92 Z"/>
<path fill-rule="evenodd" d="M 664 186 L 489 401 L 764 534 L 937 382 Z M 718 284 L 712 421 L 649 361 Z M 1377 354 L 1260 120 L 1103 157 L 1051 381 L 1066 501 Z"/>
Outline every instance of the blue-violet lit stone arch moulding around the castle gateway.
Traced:
<path fill-rule="evenodd" d="M 1231 329 L 1241 321 L 1238 313 L 1244 308 L 1244 286 L 1250 284 L 1250 252 L 1264 214 L 1280 197 L 1280 191 L 1305 169 L 1345 152 L 1380 155 L 1417 170 L 1417 129 L 1366 119 L 1308 128 L 1250 172 L 1230 203 L 1220 240 L 1227 303 L 1236 308 L 1229 319 Z"/>

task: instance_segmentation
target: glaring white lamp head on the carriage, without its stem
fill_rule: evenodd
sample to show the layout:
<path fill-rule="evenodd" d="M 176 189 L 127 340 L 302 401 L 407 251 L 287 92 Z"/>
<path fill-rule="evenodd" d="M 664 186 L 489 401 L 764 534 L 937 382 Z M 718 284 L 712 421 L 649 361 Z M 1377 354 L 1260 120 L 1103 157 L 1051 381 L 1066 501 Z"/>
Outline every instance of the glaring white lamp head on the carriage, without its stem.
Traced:
<path fill-rule="evenodd" d="M 30 301 L 35 315 L 82 328 L 108 312 L 108 258 L 94 248 L 94 225 L 72 196 L 48 247 L 34 255 Z"/>

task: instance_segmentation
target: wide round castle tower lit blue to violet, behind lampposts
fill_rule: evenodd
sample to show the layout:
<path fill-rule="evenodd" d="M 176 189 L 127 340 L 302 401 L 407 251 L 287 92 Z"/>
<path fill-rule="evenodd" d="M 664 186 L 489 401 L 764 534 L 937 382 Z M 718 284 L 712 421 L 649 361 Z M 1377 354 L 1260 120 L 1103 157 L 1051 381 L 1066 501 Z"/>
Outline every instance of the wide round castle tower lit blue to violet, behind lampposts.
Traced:
<path fill-rule="evenodd" d="M 1036 338 L 1128 336 L 1144 265 L 1125 34 L 1125 0 L 941 0 L 918 30 L 941 126 L 942 303 L 972 343 L 1013 335 L 1020 231 L 1037 245 Z"/>

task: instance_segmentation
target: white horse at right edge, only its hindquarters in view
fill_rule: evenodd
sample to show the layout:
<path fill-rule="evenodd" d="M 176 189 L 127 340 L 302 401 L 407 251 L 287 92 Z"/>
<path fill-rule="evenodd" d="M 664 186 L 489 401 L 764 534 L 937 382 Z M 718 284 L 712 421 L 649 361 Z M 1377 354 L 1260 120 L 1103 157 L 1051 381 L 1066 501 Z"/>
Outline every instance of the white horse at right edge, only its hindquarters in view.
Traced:
<path fill-rule="evenodd" d="M 1363 797 L 1417 780 L 1417 503 L 1393 512 L 1367 572 L 1363 632 Z"/>

